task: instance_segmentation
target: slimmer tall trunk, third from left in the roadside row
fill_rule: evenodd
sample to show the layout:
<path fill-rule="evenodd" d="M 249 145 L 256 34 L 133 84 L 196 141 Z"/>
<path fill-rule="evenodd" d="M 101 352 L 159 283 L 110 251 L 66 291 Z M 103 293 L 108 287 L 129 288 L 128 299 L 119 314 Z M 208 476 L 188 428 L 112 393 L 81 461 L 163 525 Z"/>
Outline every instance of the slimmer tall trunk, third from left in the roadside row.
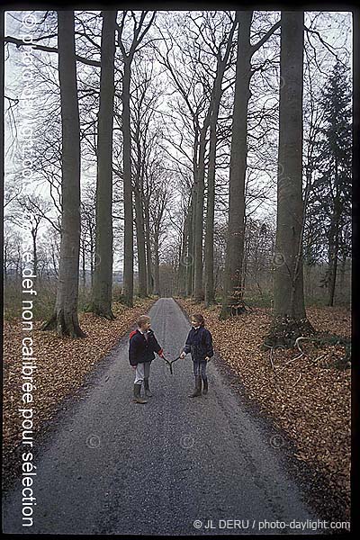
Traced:
<path fill-rule="evenodd" d="M 131 134 L 130 134 L 130 58 L 124 58 L 122 78 L 122 136 L 123 136 L 123 204 L 124 204 L 124 263 L 123 297 L 132 307 L 134 295 L 134 245 L 131 186 Z"/>

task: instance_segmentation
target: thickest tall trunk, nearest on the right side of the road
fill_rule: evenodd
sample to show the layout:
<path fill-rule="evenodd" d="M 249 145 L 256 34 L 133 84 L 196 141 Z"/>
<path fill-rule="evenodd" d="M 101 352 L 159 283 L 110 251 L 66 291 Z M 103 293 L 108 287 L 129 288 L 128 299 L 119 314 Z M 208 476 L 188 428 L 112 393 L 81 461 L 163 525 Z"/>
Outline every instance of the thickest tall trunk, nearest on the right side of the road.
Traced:
<path fill-rule="evenodd" d="M 273 343 L 293 346 L 312 333 L 306 319 L 302 274 L 302 61 L 303 12 L 283 12 L 275 240 Z"/>

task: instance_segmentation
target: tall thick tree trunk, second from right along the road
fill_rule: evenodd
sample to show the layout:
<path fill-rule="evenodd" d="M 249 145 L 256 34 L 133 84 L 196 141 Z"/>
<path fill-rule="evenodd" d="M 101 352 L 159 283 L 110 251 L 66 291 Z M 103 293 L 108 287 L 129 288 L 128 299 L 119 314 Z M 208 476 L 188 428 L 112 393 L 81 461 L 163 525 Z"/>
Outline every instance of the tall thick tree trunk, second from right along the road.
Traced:
<path fill-rule="evenodd" d="M 242 311 L 241 272 L 244 252 L 245 175 L 247 171 L 247 104 L 251 76 L 250 26 L 253 12 L 238 12 L 238 56 L 229 174 L 229 230 L 221 319 Z"/>

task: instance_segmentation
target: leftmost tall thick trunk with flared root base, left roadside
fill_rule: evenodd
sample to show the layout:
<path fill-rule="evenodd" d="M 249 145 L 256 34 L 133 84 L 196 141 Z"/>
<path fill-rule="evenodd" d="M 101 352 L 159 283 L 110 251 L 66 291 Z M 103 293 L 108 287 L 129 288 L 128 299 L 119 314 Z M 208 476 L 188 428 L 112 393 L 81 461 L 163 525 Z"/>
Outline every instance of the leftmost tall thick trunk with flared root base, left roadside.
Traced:
<path fill-rule="evenodd" d="M 42 329 L 85 337 L 77 318 L 80 251 L 80 122 L 76 86 L 74 12 L 58 11 L 58 77 L 62 125 L 62 216 L 55 311 Z"/>

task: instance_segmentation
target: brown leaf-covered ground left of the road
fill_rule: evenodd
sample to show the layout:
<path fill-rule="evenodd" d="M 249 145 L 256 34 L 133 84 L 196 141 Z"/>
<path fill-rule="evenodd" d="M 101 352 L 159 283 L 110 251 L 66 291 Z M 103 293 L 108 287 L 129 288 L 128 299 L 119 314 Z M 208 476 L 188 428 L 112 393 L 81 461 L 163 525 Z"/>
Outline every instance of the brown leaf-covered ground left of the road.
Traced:
<path fill-rule="evenodd" d="M 155 299 L 136 299 L 133 308 L 120 302 L 112 304 L 115 320 L 105 320 L 93 313 L 79 313 L 80 327 L 86 338 L 58 338 L 55 330 L 42 331 L 41 320 L 34 323 L 31 332 L 36 358 L 36 390 L 41 396 L 37 400 L 34 431 L 38 432 L 57 412 L 61 401 L 79 388 L 85 375 L 109 353 L 120 339 L 134 326 L 139 315 L 147 313 Z M 21 320 L 4 320 L 3 353 L 3 468 L 7 475 L 16 461 L 16 449 L 21 442 L 19 408 L 21 401 L 22 339 Z"/>

